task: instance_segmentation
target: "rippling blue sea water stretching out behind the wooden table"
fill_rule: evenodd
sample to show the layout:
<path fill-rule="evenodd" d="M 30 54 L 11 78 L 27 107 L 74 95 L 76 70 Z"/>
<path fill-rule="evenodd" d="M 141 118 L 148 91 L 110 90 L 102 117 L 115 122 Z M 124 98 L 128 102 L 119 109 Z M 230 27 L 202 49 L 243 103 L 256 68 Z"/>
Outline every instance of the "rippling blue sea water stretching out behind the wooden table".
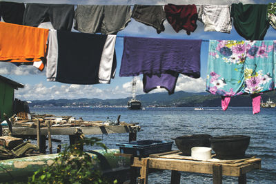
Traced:
<path fill-rule="evenodd" d="M 210 134 L 212 136 L 243 134 L 250 136 L 246 154 L 262 159 L 262 169 L 246 174 L 247 183 L 276 183 L 276 108 L 262 109 L 259 114 L 252 108 L 30 108 L 37 114 L 81 117 L 85 121 L 120 121 L 139 123 L 141 131 L 137 140 L 155 139 L 172 141 L 171 138 L 186 134 Z M 119 148 L 116 143 L 128 142 L 128 134 L 97 135 L 108 148 Z M 68 136 L 54 136 L 62 143 L 69 143 Z M 96 147 L 97 148 L 97 147 Z M 54 145 L 53 150 L 56 150 Z M 177 150 L 175 143 L 172 150 Z M 170 171 L 151 173 L 148 183 L 170 183 Z M 181 173 L 181 183 L 213 183 L 210 174 Z M 237 177 L 224 176 L 223 183 L 237 183 Z"/>

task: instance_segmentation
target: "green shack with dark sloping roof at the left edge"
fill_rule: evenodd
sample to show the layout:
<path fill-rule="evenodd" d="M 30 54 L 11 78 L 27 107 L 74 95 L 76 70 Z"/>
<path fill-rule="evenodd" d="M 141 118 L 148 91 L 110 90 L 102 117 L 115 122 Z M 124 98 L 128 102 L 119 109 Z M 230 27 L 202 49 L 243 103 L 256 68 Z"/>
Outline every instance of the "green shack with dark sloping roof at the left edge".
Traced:
<path fill-rule="evenodd" d="M 0 75 L 0 121 L 4 119 L 3 113 L 6 113 L 8 117 L 14 114 L 14 90 L 18 88 L 24 88 L 24 85 L 12 81 L 4 76 Z"/>

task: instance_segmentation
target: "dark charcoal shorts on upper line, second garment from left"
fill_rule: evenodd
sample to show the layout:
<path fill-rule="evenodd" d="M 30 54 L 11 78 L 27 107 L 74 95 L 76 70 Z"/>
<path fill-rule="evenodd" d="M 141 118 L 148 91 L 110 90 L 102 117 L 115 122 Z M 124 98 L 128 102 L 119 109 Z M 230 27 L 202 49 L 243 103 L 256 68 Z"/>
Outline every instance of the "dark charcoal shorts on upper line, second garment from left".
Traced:
<path fill-rule="evenodd" d="M 23 25 L 37 27 L 50 21 L 55 30 L 72 30 L 75 15 L 74 5 L 27 3 L 23 16 Z"/>

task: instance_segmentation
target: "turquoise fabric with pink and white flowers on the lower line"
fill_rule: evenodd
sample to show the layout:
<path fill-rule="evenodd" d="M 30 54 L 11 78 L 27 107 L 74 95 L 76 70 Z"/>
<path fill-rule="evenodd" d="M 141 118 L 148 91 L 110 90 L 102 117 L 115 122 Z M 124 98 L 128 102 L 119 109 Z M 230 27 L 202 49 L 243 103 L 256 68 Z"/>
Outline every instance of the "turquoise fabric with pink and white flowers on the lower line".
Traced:
<path fill-rule="evenodd" d="M 275 41 L 210 40 L 206 90 L 221 96 L 275 88 Z"/>

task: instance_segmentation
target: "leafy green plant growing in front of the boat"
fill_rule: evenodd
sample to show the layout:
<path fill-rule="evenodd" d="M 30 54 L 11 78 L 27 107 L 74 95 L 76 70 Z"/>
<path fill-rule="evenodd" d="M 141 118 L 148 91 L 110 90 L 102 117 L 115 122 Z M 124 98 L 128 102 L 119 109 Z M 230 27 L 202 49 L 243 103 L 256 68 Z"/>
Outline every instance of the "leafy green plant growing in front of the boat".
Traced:
<path fill-rule="evenodd" d="M 97 160 L 83 151 L 83 145 L 98 145 L 107 150 L 106 145 L 95 137 L 79 140 L 75 145 L 66 146 L 63 152 L 48 167 L 43 167 L 29 178 L 28 183 L 117 183 L 103 178 L 95 164 Z"/>

